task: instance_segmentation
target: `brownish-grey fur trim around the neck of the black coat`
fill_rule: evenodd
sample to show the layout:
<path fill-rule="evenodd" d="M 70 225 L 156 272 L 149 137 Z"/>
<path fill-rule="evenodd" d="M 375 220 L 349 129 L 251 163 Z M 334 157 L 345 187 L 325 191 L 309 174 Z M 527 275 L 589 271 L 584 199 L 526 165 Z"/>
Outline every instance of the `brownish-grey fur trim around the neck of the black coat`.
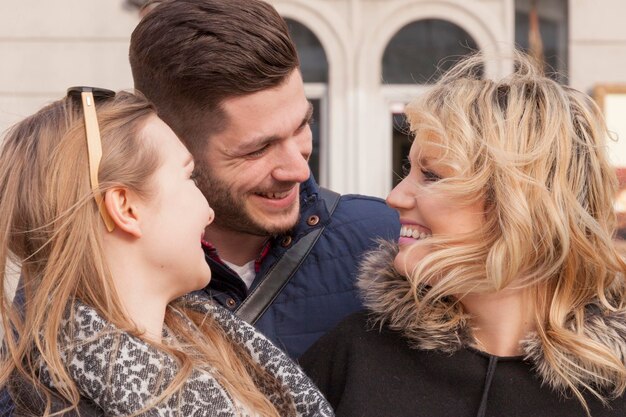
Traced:
<path fill-rule="evenodd" d="M 412 285 L 393 268 L 393 260 L 398 253 L 397 244 L 385 241 L 379 243 L 377 250 L 365 255 L 357 281 L 364 305 L 371 313 L 372 325 L 386 326 L 401 332 L 414 349 L 453 353 L 472 345 L 474 339 L 469 316 L 455 306 L 452 300 L 442 301 L 445 308 L 435 318 L 436 324 L 441 326 L 425 325 L 423 320 L 418 319 Z M 604 311 L 599 304 L 590 305 L 586 311 L 583 332 L 608 347 L 625 363 L 626 311 Z M 435 324 L 432 321 L 430 323 Z M 574 323 L 571 323 L 571 328 L 574 327 Z M 563 375 L 576 374 L 577 388 L 592 388 L 609 397 L 616 394 L 614 381 L 618 377 L 615 374 L 598 369 L 575 355 L 567 356 L 569 364 L 564 367 L 555 369 L 551 366 L 544 357 L 543 342 L 535 333 L 529 334 L 521 342 L 521 347 L 525 360 L 533 364 L 543 383 L 556 391 L 569 391 L 569 384 Z"/>

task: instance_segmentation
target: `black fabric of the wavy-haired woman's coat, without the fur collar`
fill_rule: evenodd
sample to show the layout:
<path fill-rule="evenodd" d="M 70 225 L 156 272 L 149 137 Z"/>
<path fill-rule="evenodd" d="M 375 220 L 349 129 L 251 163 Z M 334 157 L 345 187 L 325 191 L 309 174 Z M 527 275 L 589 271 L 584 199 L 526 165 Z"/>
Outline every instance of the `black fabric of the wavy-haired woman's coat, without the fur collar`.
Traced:
<path fill-rule="evenodd" d="M 357 313 L 301 358 L 337 417 L 584 417 L 576 398 L 557 395 L 523 357 L 472 348 L 448 354 L 409 348 L 401 333 L 368 329 Z M 587 396 L 593 417 L 626 416 L 626 399 L 603 407 Z"/>

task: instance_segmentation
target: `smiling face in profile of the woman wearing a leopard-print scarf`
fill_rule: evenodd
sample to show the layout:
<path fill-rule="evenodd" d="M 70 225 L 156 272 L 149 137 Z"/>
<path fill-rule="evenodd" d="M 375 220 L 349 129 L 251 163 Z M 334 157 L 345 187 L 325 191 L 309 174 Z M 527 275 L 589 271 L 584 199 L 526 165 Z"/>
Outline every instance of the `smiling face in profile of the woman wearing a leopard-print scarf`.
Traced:
<path fill-rule="evenodd" d="M 142 134 L 158 149 L 153 194 L 140 201 L 143 251 L 152 265 L 153 289 L 172 299 L 203 288 L 211 279 L 201 240 L 214 213 L 196 187 L 194 161 L 161 119 L 150 118 Z"/>

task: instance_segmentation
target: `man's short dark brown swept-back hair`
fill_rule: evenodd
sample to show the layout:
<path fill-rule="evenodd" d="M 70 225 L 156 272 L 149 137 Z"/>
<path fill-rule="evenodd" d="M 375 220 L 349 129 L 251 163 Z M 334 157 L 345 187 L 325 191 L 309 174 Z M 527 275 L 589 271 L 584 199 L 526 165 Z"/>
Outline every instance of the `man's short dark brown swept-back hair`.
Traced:
<path fill-rule="evenodd" d="M 135 88 L 196 154 L 228 122 L 227 98 L 282 84 L 298 68 L 287 24 L 260 0 L 166 0 L 130 41 Z"/>

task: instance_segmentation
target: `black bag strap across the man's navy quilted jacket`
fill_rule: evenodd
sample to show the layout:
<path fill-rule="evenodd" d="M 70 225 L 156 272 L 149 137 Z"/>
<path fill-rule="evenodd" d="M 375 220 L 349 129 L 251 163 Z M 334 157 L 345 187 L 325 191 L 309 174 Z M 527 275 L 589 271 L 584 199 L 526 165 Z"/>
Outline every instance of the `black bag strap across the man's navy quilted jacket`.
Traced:
<path fill-rule="evenodd" d="M 324 199 L 328 214 L 332 217 L 341 196 L 326 188 L 320 188 L 320 196 Z M 326 226 L 322 226 L 315 229 L 289 248 L 265 275 L 263 281 L 235 310 L 235 314 L 248 323 L 255 324 L 298 270 L 325 228 Z"/>

